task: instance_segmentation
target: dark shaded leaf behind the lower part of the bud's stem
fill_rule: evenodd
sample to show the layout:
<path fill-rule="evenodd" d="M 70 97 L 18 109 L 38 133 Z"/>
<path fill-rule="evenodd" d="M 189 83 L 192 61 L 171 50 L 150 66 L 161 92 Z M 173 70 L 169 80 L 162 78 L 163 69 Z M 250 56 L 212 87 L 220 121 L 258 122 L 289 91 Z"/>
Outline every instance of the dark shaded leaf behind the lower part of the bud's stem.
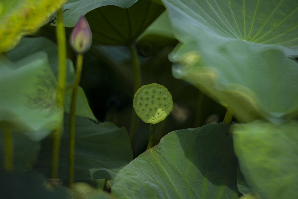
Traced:
<path fill-rule="evenodd" d="M 115 175 L 132 160 L 132 150 L 125 128 L 105 122 L 94 124 L 86 118 L 75 121 L 75 182 L 103 186 L 102 179 L 114 180 Z M 42 142 L 39 159 L 34 169 L 49 176 L 52 139 Z M 69 118 L 64 118 L 58 176 L 68 179 Z"/>

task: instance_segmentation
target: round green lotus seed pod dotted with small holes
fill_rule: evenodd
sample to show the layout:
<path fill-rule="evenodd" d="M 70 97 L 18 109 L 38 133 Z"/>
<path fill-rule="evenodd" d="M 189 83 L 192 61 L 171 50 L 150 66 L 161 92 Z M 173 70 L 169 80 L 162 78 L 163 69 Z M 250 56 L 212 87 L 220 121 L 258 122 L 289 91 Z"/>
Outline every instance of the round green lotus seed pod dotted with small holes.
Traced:
<path fill-rule="evenodd" d="M 142 121 L 156 124 L 163 121 L 173 109 L 173 98 L 160 84 L 144 85 L 134 94 L 134 109 Z"/>

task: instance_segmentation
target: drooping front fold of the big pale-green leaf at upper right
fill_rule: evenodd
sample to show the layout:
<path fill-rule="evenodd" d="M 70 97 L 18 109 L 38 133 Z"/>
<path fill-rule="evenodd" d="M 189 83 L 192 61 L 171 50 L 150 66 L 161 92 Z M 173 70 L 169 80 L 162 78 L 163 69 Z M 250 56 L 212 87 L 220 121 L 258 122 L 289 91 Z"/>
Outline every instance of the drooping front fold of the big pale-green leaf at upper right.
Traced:
<path fill-rule="evenodd" d="M 240 121 L 297 117 L 298 64 L 279 50 L 255 50 L 245 41 L 208 49 L 190 42 L 172 56 L 185 65 L 173 67 L 174 77 L 229 104 Z"/>

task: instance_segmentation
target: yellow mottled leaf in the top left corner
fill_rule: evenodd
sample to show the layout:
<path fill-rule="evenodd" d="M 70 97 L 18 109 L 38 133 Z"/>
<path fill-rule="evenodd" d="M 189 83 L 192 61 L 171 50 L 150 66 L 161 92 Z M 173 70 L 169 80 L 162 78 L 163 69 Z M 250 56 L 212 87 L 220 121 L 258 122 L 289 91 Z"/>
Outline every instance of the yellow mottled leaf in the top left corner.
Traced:
<path fill-rule="evenodd" d="M 11 50 L 21 37 L 33 35 L 66 0 L 3 0 L 0 2 L 0 53 Z"/>

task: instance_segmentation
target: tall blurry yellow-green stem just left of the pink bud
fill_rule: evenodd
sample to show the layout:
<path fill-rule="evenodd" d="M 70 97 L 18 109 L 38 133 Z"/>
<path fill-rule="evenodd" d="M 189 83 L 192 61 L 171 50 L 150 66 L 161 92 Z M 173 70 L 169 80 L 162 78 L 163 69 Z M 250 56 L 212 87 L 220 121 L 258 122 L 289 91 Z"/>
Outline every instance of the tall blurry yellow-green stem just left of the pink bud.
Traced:
<path fill-rule="evenodd" d="M 66 81 L 66 38 L 65 28 L 63 26 L 62 10 L 57 11 L 57 27 L 56 37 L 58 41 L 58 59 L 59 59 L 59 74 L 57 84 L 57 103 L 59 109 L 64 112 L 64 92 L 65 92 L 65 81 Z M 61 116 L 60 128 L 55 129 L 53 133 L 53 148 L 52 148 L 52 162 L 50 178 L 58 178 L 58 167 L 59 167 L 59 151 L 61 132 L 63 131 L 63 115 Z"/>

